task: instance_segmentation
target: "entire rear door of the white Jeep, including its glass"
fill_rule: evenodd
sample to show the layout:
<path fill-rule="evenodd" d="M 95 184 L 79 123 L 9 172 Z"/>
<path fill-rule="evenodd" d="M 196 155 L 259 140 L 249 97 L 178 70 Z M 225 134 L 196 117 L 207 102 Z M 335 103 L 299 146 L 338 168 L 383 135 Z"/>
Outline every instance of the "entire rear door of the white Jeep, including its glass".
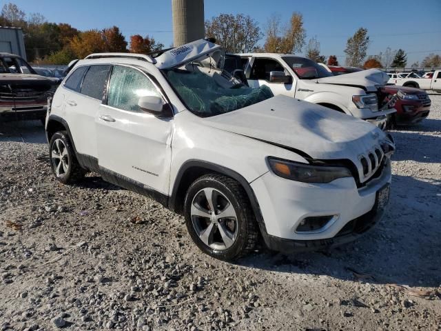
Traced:
<path fill-rule="evenodd" d="M 64 88 L 64 117 L 69 123 L 76 151 L 98 157 L 96 150 L 95 118 L 103 95 L 110 65 L 81 66 L 66 79 Z"/>

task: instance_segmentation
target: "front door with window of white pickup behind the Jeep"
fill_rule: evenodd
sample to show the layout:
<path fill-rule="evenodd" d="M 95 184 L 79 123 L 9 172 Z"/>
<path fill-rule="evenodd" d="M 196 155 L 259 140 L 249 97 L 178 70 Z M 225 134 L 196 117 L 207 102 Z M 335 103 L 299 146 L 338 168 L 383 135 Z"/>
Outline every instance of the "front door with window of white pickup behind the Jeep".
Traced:
<path fill-rule="evenodd" d="M 293 83 L 272 83 L 269 81 L 269 73 L 271 71 L 283 71 L 285 74 L 291 76 L 288 70 L 277 60 L 268 59 L 265 57 L 254 57 L 250 61 L 250 66 L 247 70 L 247 79 L 250 88 L 260 88 L 260 86 L 268 86 L 274 95 L 285 94 L 294 97 L 295 86 Z M 291 76 L 291 81 L 294 81 Z"/>

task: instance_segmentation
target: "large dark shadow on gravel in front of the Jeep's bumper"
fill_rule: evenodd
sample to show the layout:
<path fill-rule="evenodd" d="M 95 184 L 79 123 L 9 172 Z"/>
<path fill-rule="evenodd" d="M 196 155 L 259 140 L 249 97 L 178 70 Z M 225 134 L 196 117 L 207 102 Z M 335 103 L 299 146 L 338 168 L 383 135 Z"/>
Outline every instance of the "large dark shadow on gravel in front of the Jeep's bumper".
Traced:
<path fill-rule="evenodd" d="M 409 190 L 409 188 L 411 188 Z M 386 216 L 364 237 L 324 252 L 262 250 L 239 265 L 369 283 L 438 287 L 441 283 L 441 181 L 394 176 Z"/>

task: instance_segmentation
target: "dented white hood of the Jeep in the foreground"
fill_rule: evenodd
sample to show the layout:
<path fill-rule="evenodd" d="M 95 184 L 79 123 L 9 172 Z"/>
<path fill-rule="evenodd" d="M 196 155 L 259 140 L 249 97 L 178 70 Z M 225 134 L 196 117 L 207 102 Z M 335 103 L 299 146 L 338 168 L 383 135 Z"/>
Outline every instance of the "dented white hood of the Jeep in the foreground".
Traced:
<path fill-rule="evenodd" d="M 301 150 L 314 159 L 356 161 L 386 138 L 371 123 L 281 94 L 205 121 L 220 130 Z"/>

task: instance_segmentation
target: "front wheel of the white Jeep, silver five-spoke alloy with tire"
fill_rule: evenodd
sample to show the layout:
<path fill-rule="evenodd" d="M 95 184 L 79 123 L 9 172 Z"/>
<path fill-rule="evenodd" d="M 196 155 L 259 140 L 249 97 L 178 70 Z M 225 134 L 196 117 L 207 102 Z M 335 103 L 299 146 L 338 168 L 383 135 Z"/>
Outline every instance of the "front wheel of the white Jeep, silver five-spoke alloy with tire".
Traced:
<path fill-rule="evenodd" d="M 247 194 L 229 177 L 207 174 L 196 179 L 187 190 L 184 214 L 193 241 L 216 259 L 237 259 L 250 252 L 258 240 Z"/>

